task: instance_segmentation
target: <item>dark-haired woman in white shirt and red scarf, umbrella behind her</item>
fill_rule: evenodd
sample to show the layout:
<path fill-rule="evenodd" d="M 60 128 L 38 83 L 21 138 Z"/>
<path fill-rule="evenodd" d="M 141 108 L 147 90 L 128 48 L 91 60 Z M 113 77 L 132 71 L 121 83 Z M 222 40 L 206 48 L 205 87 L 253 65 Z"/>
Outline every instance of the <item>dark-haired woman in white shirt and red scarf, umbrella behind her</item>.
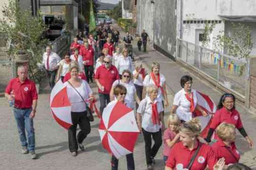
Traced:
<path fill-rule="evenodd" d="M 174 96 L 174 103 L 170 113 L 176 113 L 181 123 L 191 120 L 195 110 L 200 111 L 203 116 L 207 116 L 207 113 L 197 104 L 197 92 L 191 88 L 192 84 L 193 79 L 190 76 L 182 76 L 180 79 L 182 89 Z"/>

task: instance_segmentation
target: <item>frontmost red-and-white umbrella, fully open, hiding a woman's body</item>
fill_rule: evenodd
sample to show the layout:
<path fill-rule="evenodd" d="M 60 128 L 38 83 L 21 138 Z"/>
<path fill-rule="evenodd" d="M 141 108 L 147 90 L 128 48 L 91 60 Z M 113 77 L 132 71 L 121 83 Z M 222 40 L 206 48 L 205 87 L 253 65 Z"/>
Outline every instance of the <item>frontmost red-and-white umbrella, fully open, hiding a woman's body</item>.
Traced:
<path fill-rule="evenodd" d="M 133 153 L 139 136 L 134 110 L 113 101 L 103 110 L 99 134 L 103 148 L 119 159 Z"/>

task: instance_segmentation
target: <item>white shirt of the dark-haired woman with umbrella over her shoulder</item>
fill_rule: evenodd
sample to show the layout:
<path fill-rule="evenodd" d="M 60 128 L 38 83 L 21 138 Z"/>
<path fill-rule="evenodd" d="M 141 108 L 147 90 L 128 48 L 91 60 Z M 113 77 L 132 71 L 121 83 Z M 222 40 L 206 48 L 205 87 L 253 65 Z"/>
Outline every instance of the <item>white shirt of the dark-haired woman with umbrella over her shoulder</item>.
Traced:
<path fill-rule="evenodd" d="M 194 105 L 196 107 L 197 91 L 192 89 L 191 92 L 193 92 Z M 190 112 L 190 102 L 187 100 L 185 94 L 186 92 L 184 88 L 178 91 L 174 96 L 173 105 L 178 106 L 176 114 L 179 116 L 179 118 L 187 122 L 192 119 L 192 113 Z"/>

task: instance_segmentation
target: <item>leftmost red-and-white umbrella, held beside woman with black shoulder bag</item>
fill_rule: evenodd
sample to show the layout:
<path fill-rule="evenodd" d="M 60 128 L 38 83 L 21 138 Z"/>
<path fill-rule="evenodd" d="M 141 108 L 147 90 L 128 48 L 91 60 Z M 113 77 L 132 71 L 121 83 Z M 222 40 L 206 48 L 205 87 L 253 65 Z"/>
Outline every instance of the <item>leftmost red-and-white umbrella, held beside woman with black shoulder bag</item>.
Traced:
<path fill-rule="evenodd" d="M 56 122 L 65 129 L 72 126 L 71 104 L 67 94 L 67 86 L 59 80 L 51 91 L 50 109 Z"/>

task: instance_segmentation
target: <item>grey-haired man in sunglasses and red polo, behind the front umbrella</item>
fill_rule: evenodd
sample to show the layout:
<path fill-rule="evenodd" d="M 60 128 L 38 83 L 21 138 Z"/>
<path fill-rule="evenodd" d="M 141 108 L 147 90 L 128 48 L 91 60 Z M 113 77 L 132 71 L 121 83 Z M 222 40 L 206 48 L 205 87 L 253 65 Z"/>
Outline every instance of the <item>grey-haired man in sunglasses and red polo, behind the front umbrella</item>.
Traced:
<path fill-rule="evenodd" d="M 101 115 L 103 109 L 110 103 L 110 90 L 112 84 L 119 79 L 118 70 L 111 64 L 111 58 L 105 57 L 103 60 L 104 64 L 98 67 L 94 76 L 98 86 Z"/>

